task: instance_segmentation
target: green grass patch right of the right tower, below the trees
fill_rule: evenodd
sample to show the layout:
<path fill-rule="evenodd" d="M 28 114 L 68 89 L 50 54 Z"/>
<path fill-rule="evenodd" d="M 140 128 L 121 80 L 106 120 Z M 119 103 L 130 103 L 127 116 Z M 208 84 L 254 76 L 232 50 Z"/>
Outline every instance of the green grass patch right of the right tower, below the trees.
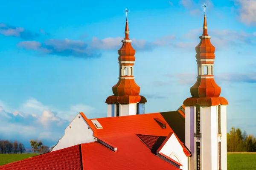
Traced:
<path fill-rule="evenodd" d="M 228 170 L 256 170 L 255 153 L 228 153 Z"/>

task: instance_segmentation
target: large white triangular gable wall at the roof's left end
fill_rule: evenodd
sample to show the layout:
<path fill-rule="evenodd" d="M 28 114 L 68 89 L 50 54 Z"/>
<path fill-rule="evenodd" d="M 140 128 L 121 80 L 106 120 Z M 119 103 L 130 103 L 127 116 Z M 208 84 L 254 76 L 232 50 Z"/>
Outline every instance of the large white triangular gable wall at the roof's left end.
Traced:
<path fill-rule="evenodd" d="M 80 117 L 80 118 L 79 118 Z M 64 136 L 59 139 L 52 151 L 74 146 L 81 143 L 94 142 L 93 130 L 89 128 L 84 118 L 79 113 L 65 129 Z"/>

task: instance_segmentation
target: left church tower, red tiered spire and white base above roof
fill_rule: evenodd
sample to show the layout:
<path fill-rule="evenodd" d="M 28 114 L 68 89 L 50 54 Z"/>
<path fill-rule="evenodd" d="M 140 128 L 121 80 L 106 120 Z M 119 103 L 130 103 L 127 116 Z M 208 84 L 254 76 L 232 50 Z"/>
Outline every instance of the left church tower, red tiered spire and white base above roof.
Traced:
<path fill-rule="evenodd" d="M 134 81 L 135 50 L 129 39 L 127 17 L 125 39 L 122 40 L 122 43 L 122 47 L 118 50 L 119 81 L 112 88 L 114 95 L 106 99 L 108 117 L 144 114 L 145 102 L 147 102 L 145 97 L 139 96 L 140 86 Z"/>

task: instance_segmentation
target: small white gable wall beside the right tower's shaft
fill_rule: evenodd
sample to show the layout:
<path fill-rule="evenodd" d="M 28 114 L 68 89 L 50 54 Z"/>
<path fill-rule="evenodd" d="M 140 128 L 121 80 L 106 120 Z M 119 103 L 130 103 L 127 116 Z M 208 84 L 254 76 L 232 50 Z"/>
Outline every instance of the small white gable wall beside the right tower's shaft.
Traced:
<path fill-rule="evenodd" d="M 182 164 L 183 170 L 188 170 L 188 157 L 183 152 L 183 147 L 174 134 L 172 134 L 159 152 Z"/>

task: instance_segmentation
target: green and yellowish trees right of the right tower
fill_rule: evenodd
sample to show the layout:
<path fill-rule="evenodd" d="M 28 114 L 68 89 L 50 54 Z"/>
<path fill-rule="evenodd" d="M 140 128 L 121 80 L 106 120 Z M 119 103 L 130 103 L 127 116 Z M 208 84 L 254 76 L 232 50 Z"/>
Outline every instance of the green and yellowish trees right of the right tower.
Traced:
<path fill-rule="evenodd" d="M 232 127 L 227 133 L 227 152 L 256 152 L 256 138 Z"/>

